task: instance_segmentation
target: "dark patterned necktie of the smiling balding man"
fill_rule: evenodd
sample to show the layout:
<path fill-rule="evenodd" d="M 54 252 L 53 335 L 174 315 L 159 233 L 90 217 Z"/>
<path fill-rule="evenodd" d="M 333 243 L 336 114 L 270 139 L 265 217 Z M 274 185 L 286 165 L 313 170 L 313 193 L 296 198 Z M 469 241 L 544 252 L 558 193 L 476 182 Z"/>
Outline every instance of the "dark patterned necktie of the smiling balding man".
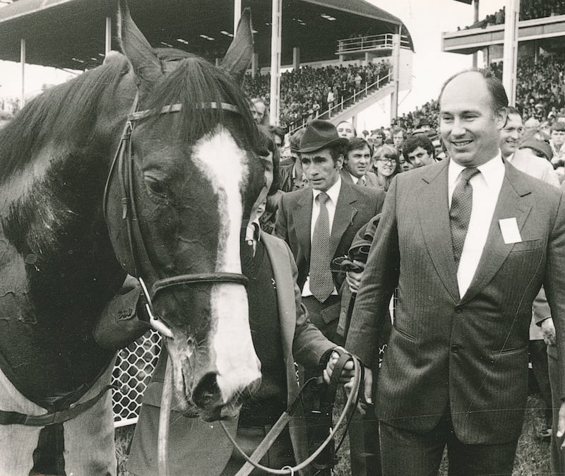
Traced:
<path fill-rule="evenodd" d="M 459 183 L 451 197 L 451 208 L 449 208 L 449 222 L 451 224 L 451 240 L 453 242 L 453 258 L 456 266 L 459 266 L 463 244 L 467 236 L 469 220 L 472 210 L 472 185 L 469 183 L 472 177 L 480 173 L 479 169 L 467 168 L 461 172 Z"/>

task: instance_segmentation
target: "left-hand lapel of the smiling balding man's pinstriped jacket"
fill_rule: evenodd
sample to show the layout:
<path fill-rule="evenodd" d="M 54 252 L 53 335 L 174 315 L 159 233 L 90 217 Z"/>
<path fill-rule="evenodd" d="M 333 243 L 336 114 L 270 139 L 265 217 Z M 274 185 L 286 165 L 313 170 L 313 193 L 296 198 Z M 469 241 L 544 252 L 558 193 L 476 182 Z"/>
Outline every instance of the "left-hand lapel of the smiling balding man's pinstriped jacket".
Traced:
<path fill-rule="evenodd" d="M 420 227 L 436 272 L 454 302 L 459 301 L 457 270 L 453 258 L 448 206 L 448 160 L 430 165 L 422 176 L 426 185 L 417 197 Z"/>

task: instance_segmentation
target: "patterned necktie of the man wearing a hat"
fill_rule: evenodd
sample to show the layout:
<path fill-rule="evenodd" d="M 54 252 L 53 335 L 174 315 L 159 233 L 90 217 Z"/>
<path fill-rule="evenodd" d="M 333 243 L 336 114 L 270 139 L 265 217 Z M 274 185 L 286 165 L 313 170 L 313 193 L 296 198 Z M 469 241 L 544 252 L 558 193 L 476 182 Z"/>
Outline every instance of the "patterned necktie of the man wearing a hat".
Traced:
<path fill-rule="evenodd" d="M 316 198 L 320 204 L 320 213 L 314 225 L 310 250 L 310 292 L 324 302 L 333 291 L 333 279 L 330 270 L 330 219 L 328 215 L 328 194 L 321 192 Z"/>

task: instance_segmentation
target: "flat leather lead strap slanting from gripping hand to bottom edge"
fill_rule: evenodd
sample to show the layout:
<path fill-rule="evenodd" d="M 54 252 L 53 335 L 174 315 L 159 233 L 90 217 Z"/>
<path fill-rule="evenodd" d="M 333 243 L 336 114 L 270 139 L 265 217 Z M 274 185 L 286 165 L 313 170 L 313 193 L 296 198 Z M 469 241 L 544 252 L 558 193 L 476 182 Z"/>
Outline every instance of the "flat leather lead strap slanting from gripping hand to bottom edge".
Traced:
<path fill-rule="evenodd" d="M 333 367 L 332 376 L 330 379 L 330 383 L 328 385 L 328 395 L 333 395 L 333 398 L 335 398 L 335 393 L 338 391 L 338 384 L 340 381 L 340 375 L 343 371 L 343 367 L 345 366 L 346 362 L 352 359 L 352 355 L 350 355 L 347 352 L 344 352 L 340 347 L 337 347 L 334 350 L 335 352 L 338 352 L 340 357 L 338 359 L 338 362 L 336 362 L 335 366 Z M 242 466 L 242 468 L 236 473 L 235 476 L 248 476 L 255 469 L 253 463 L 258 463 L 258 461 L 260 461 L 261 458 L 263 458 L 263 456 L 266 455 L 269 448 L 273 446 L 276 439 L 283 431 L 287 423 L 290 422 L 292 415 L 295 414 L 299 405 L 300 397 L 302 396 L 304 389 L 313 383 L 316 384 L 323 383 L 323 379 L 321 377 L 312 377 L 299 388 L 299 391 L 295 399 L 292 400 L 292 403 L 290 403 L 290 405 L 287 407 L 287 410 L 285 410 L 285 412 L 283 412 L 283 415 L 281 415 L 280 418 L 275 422 L 275 424 L 273 424 L 273 427 L 270 429 L 270 432 L 266 434 L 263 441 L 261 441 L 261 444 L 257 446 L 254 453 L 249 457 L 249 460 L 251 460 L 252 463 L 250 463 L 248 460 Z M 290 472 L 285 471 L 283 472 L 283 474 L 292 474 L 292 468 L 289 468 L 289 471 Z M 273 474 L 277 474 L 277 472 L 273 472 Z"/>

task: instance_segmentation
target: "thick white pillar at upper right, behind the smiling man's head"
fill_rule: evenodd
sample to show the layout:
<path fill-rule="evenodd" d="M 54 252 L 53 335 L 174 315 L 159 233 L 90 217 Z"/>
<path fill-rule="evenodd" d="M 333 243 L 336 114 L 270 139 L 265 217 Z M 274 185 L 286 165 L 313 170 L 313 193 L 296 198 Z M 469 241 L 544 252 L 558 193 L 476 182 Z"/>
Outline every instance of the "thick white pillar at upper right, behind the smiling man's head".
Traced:
<path fill-rule="evenodd" d="M 506 18 L 504 20 L 504 68 L 502 84 L 506 89 L 509 104 L 516 104 L 516 70 L 518 65 L 518 15 L 520 0 L 506 0 Z"/>

